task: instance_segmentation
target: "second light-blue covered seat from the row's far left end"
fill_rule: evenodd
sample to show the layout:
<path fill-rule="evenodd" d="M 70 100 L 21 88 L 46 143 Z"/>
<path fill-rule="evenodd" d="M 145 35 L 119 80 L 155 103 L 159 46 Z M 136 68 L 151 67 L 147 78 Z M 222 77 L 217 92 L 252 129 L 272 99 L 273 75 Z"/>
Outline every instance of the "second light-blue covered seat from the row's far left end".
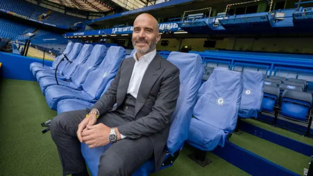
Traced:
<path fill-rule="evenodd" d="M 74 44 L 72 51 L 67 55 L 68 60 L 71 62 L 76 60 L 76 58 L 78 57 L 82 48 L 83 48 L 83 44 L 81 44 L 81 43 Z M 63 75 L 63 70 L 64 70 L 64 68 L 67 67 L 68 64 L 69 63 L 67 62 L 66 59 L 64 59 L 64 61 L 60 63 L 60 65 L 58 66 L 58 70 L 57 70 L 57 78 L 58 79 L 66 80 L 66 77 Z M 42 70 L 42 71 L 38 71 L 36 73 L 37 81 L 39 81 L 41 78 L 44 78 L 47 76 L 55 77 L 55 70 Z"/>

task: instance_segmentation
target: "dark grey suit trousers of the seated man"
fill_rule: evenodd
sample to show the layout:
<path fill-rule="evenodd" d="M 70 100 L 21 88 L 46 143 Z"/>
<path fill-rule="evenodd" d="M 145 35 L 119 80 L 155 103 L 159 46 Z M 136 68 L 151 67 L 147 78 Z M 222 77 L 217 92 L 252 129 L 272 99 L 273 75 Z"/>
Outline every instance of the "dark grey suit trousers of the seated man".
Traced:
<path fill-rule="evenodd" d="M 87 110 L 68 111 L 56 116 L 50 124 L 51 137 L 57 146 L 64 176 L 87 169 L 76 135 L 78 124 L 87 113 Z M 128 122 L 117 111 L 108 112 L 97 120 L 97 124 L 103 123 L 108 127 L 117 127 Z M 153 145 L 149 137 L 119 140 L 101 155 L 98 176 L 131 176 L 152 157 Z"/>

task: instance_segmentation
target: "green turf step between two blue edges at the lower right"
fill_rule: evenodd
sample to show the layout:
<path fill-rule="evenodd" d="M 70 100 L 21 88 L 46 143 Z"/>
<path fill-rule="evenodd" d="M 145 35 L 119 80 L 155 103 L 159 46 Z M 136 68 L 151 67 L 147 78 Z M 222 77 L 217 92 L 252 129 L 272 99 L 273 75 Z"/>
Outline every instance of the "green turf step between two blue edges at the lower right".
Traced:
<path fill-rule="evenodd" d="M 242 132 L 233 134 L 230 142 L 257 154 L 275 164 L 278 164 L 296 174 L 303 175 L 303 168 L 308 168 L 309 157 L 287 149 L 265 139 Z"/>

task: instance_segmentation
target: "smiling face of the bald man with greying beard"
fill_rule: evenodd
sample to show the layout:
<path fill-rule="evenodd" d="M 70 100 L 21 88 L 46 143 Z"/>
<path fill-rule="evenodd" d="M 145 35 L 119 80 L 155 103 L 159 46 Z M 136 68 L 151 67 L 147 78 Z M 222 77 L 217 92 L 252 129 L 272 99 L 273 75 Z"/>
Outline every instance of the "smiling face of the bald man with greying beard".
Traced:
<path fill-rule="evenodd" d="M 134 22 L 133 46 L 137 52 L 147 53 L 156 48 L 159 41 L 157 24 L 154 24 L 149 18 L 138 18 Z"/>

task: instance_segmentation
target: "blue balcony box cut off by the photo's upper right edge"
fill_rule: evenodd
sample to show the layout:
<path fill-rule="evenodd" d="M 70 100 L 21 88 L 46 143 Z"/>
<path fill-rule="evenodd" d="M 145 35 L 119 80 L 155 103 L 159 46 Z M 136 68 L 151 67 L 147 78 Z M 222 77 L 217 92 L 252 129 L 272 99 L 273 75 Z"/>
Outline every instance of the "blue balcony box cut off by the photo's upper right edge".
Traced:
<path fill-rule="evenodd" d="M 296 11 L 292 14 L 293 25 L 298 28 L 310 28 L 313 27 L 313 8 L 299 8 L 299 11 Z"/>

